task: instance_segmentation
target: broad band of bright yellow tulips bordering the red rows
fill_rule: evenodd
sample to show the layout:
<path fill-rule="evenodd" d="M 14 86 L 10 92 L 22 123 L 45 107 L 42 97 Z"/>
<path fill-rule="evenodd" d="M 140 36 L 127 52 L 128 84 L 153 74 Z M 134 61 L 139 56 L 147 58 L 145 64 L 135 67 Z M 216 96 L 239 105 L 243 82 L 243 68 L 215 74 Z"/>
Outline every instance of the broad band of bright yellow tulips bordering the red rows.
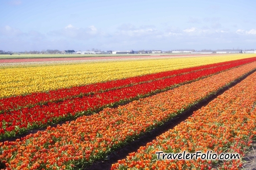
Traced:
<path fill-rule="evenodd" d="M 253 57 L 208 56 L 0 69 L 0 98 Z"/>

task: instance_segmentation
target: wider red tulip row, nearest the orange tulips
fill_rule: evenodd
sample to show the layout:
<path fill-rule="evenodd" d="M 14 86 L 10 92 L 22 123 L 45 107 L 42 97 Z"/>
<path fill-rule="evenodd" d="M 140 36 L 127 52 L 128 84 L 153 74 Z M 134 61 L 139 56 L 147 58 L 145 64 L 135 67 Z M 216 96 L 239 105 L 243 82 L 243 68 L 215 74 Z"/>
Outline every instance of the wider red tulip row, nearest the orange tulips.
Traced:
<path fill-rule="evenodd" d="M 26 131 L 30 129 L 44 127 L 47 124 L 81 116 L 109 105 L 148 96 L 153 92 L 165 90 L 166 88 L 180 83 L 221 72 L 244 64 L 245 62 L 248 61 L 220 65 L 210 69 L 200 69 L 187 74 L 139 83 L 133 86 L 83 96 L 81 98 L 66 99 L 65 101 L 57 103 L 49 102 L 47 105 L 36 105 L 32 108 L 6 111 L 0 114 L 0 139 L 10 138 L 18 134 L 26 133 Z"/>

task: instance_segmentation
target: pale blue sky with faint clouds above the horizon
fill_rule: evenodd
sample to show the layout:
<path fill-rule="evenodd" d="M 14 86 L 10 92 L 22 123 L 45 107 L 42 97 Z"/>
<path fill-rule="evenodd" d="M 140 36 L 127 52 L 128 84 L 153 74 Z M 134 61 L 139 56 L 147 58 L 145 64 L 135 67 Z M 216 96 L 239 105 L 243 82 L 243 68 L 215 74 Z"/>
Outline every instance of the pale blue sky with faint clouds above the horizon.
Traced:
<path fill-rule="evenodd" d="M 256 0 L 0 0 L 0 49 L 256 49 Z"/>

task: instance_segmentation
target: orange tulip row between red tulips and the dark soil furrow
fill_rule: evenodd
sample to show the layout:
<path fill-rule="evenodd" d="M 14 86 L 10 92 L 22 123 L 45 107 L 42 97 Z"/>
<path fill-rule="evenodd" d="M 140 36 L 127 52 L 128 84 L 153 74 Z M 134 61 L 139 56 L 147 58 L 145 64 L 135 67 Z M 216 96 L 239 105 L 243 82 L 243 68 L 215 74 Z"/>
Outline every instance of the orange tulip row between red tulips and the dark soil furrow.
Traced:
<path fill-rule="evenodd" d="M 85 166 L 255 69 L 253 62 L 62 126 L 48 127 L 21 140 L 5 141 L 0 143 L 0 164 L 5 164 L 7 170 Z"/>

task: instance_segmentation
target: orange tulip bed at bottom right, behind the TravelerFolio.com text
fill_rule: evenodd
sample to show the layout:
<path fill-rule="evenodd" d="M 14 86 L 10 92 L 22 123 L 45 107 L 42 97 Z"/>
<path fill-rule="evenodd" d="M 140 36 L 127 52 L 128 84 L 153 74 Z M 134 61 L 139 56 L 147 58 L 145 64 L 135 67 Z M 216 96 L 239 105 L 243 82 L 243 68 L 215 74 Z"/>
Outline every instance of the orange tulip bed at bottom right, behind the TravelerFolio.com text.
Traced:
<path fill-rule="evenodd" d="M 126 159 L 118 160 L 112 170 L 240 169 L 237 160 L 158 160 L 164 153 L 196 152 L 238 153 L 244 156 L 256 136 L 256 72 L 195 111 L 186 121 L 140 147 Z"/>

